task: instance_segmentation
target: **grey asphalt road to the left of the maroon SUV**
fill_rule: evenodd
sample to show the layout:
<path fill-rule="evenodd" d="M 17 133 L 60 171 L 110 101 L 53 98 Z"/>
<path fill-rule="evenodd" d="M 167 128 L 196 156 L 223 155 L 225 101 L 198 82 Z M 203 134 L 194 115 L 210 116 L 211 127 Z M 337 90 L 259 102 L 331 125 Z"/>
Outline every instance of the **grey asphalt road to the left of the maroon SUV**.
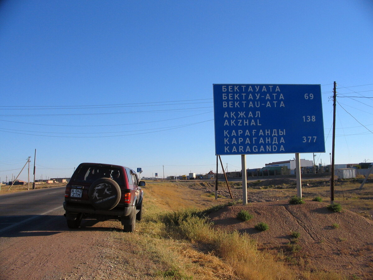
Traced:
<path fill-rule="evenodd" d="M 0 236 L 19 227 L 25 230 L 38 219 L 63 215 L 64 194 L 65 186 L 1 195 Z"/>

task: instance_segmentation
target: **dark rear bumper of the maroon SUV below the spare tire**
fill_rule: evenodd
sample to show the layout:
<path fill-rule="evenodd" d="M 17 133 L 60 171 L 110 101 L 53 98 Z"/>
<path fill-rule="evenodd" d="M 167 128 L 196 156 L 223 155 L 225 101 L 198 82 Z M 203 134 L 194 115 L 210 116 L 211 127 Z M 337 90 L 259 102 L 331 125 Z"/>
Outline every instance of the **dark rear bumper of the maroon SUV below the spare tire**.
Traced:
<path fill-rule="evenodd" d="M 132 209 L 134 207 L 135 206 L 118 205 L 114 209 L 111 209 L 111 210 L 97 210 L 97 209 L 94 209 L 91 205 L 71 205 L 67 201 L 63 202 L 63 209 L 65 209 L 66 212 L 88 213 L 88 214 L 120 216 L 120 217 L 129 216 L 132 213 Z"/>

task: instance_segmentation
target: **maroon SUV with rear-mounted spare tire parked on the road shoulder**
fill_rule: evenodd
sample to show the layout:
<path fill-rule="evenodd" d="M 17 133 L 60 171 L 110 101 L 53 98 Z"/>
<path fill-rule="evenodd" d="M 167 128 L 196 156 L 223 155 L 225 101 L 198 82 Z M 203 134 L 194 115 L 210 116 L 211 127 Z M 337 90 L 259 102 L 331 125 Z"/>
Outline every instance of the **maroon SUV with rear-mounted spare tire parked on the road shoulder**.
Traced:
<path fill-rule="evenodd" d="M 135 230 L 142 216 L 144 181 L 134 170 L 112 164 L 82 163 L 65 189 L 64 216 L 69 228 L 78 228 L 82 219 L 116 219 L 123 230 Z"/>

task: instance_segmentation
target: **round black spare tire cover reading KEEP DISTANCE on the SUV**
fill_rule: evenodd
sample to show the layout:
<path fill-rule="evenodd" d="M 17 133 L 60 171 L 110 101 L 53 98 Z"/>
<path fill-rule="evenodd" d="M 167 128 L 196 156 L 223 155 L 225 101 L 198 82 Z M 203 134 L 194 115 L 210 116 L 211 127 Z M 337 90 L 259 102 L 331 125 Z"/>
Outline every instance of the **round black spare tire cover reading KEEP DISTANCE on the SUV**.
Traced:
<path fill-rule="evenodd" d="M 110 210 L 118 205 L 122 195 L 116 181 L 100 178 L 92 183 L 88 190 L 88 197 L 95 209 Z"/>

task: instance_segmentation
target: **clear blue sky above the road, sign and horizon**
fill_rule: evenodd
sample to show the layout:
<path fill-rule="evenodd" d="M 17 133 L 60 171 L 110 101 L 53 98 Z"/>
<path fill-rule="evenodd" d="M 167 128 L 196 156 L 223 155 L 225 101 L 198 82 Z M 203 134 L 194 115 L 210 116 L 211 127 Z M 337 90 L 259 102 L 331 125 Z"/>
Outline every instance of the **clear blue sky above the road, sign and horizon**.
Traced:
<path fill-rule="evenodd" d="M 330 164 L 336 81 L 335 163 L 373 161 L 372 38 L 368 0 L 1 1 L 1 181 L 35 149 L 37 178 L 81 162 L 160 178 L 215 170 L 222 83 L 321 84 L 315 159 Z M 246 158 L 261 168 L 294 154 Z M 239 155 L 222 161 L 241 170 Z"/>

